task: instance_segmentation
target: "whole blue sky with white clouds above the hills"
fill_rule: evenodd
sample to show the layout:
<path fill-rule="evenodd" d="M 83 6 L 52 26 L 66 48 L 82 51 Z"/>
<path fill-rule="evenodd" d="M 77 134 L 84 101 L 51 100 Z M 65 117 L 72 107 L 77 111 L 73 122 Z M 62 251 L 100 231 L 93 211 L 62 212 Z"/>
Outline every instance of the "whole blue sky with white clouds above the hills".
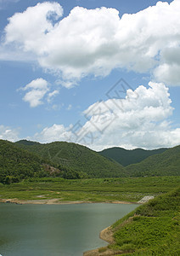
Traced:
<path fill-rule="evenodd" d="M 180 144 L 180 0 L 0 0 L 0 139 Z"/>

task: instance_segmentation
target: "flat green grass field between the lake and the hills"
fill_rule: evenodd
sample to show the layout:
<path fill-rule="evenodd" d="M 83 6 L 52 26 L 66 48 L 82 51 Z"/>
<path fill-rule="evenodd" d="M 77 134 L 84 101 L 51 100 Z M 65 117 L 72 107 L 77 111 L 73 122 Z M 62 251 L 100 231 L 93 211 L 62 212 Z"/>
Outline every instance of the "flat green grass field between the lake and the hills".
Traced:
<path fill-rule="evenodd" d="M 59 201 L 131 201 L 145 195 L 160 195 L 177 188 L 180 177 L 134 177 L 65 180 L 29 179 L 21 183 L 0 183 L 0 199 Z"/>

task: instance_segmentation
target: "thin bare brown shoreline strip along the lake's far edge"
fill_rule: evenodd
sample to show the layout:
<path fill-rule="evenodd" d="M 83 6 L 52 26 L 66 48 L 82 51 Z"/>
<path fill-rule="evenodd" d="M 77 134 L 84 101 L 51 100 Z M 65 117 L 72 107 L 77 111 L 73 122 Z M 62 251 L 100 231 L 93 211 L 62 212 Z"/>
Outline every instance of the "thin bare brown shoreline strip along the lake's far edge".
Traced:
<path fill-rule="evenodd" d="M 138 204 L 130 201 L 59 201 L 59 198 L 42 199 L 42 200 L 19 200 L 17 198 L 0 199 L 0 203 L 14 203 L 17 205 L 74 205 L 84 203 L 111 203 L 111 204 Z"/>

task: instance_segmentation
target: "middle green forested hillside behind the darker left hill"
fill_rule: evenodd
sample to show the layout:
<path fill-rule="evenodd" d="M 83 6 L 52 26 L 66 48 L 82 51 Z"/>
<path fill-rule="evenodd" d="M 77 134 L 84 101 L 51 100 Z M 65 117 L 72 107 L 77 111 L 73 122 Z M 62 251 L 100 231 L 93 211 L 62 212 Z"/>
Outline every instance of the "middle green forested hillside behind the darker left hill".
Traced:
<path fill-rule="evenodd" d="M 59 169 L 68 168 L 75 172 L 86 173 L 88 177 L 125 177 L 124 168 L 113 160 L 107 160 L 97 152 L 76 143 L 15 143 L 53 162 Z"/>

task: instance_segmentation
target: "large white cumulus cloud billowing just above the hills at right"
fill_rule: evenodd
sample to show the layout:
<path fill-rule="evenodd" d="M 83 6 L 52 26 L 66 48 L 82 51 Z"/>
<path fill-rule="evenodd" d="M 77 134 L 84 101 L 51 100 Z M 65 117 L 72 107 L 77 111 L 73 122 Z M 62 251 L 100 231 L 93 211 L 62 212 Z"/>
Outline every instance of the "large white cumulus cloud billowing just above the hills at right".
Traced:
<path fill-rule="evenodd" d="M 173 108 L 168 89 L 149 83 L 127 90 L 125 99 L 96 102 L 84 111 L 85 124 L 46 127 L 36 139 L 42 142 L 65 140 L 100 150 L 110 147 L 160 148 L 180 143 L 180 129 L 169 121 Z"/>

